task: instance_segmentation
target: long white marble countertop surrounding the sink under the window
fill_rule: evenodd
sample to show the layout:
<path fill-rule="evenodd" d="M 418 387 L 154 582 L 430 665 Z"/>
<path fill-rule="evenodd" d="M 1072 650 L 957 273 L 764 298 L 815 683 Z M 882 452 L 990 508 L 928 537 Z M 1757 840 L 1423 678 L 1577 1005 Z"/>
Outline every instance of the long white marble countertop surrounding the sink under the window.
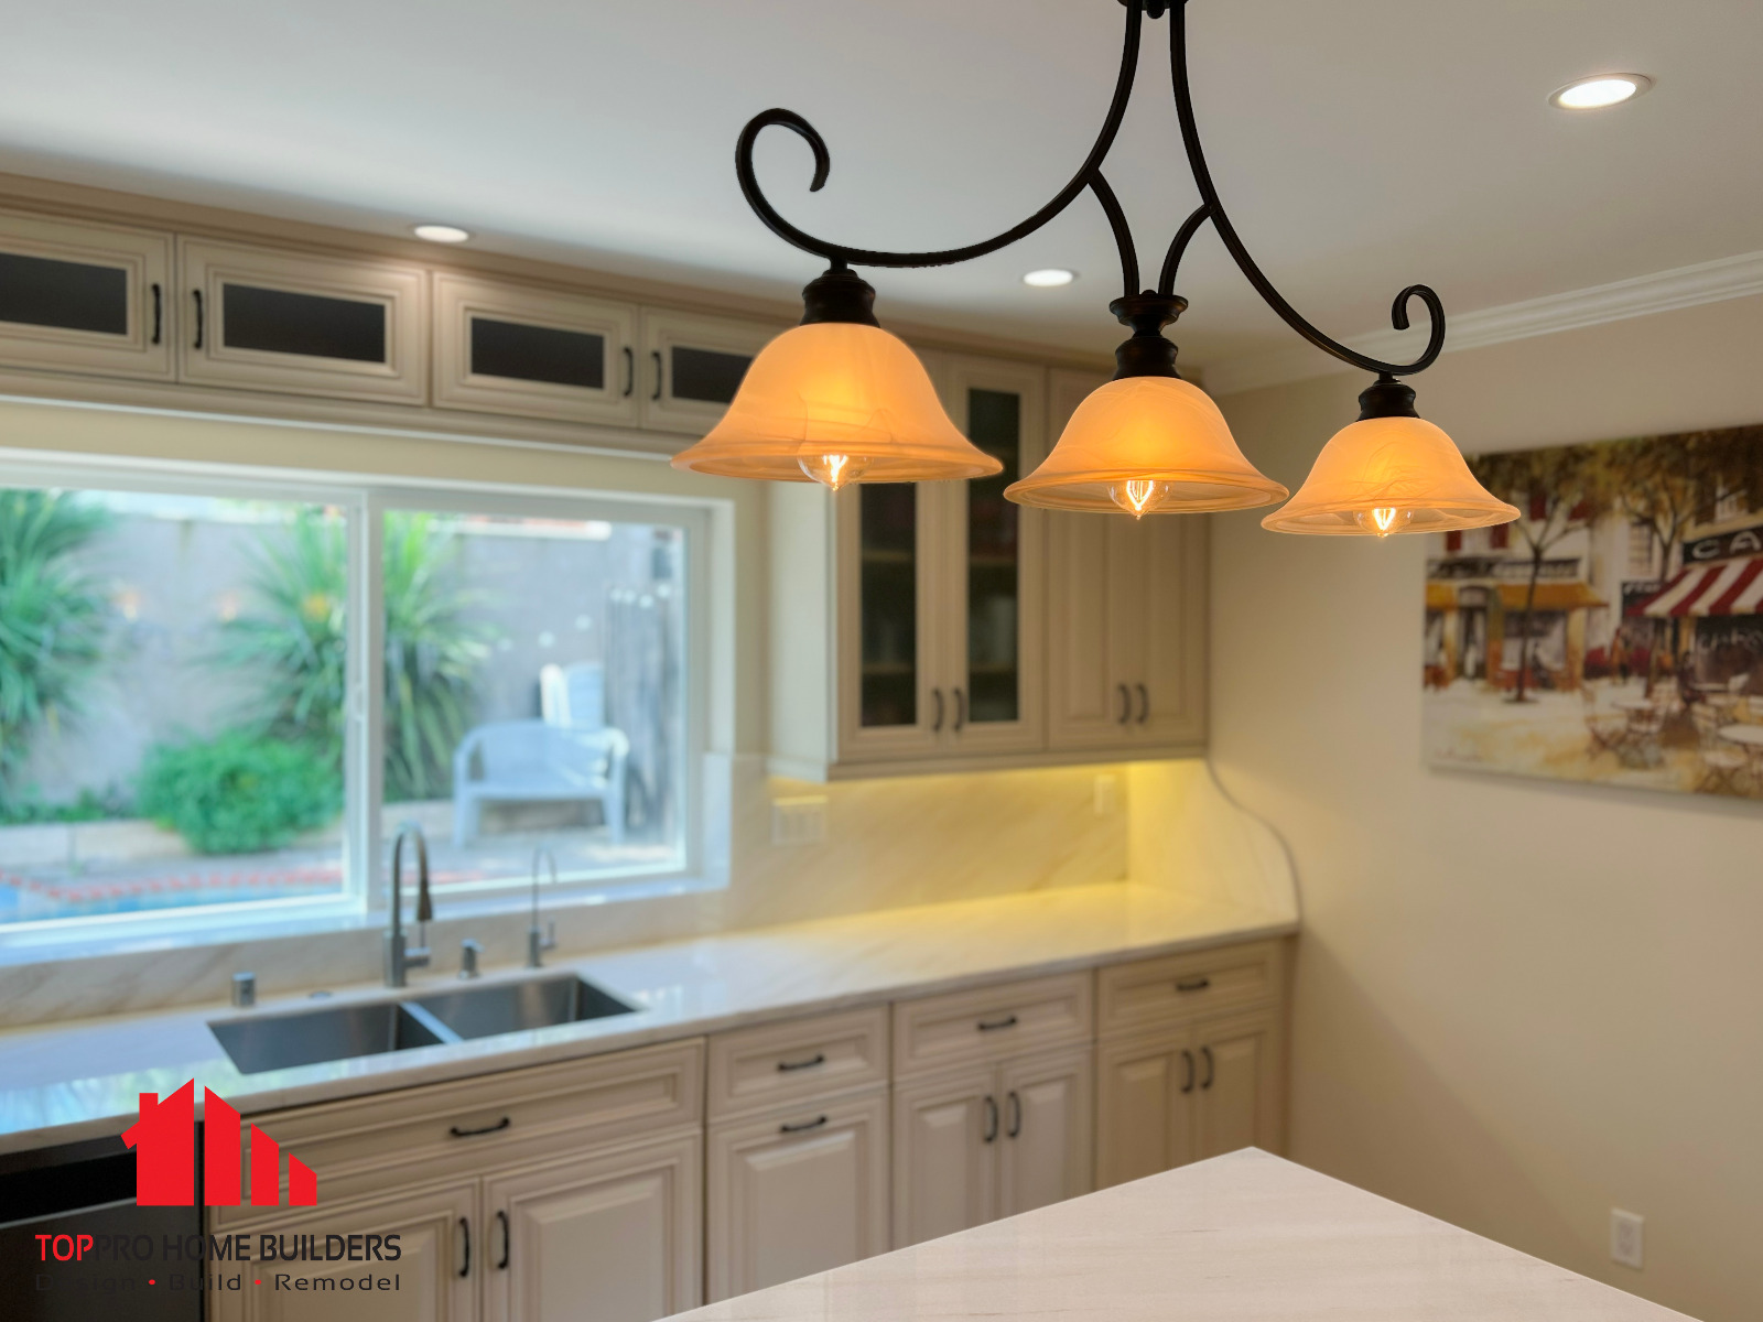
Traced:
<path fill-rule="evenodd" d="M 636 1006 L 635 1014 L 294 1070 L 240 1073 L 208 1021 L 312 1008 L 309 996 L 88 1019 L 0 1031 L 0 1153 L 122 1133 L 138 1095 L 187 1079 L 245 1114 L 462 1079 L 843 1006 L 952 991 L 1225 941 L 1298 931 L 1289 915 L 1178 892 L 1098 885 L 765 927 L 693 941 L 555 959 Z M 488 971 L 474 985 L 531 977 Z M 413 973 L 405 996 L 451 991 Z M 323 1005 L 391 999 L 377 984 Z"/>

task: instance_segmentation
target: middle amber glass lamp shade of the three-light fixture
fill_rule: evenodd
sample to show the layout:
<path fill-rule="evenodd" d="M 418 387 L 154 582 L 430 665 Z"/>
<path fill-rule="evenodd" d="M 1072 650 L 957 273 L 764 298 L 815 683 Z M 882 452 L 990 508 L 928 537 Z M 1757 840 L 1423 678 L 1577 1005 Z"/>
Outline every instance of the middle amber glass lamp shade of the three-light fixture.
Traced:
<path fill-rule="evenodd" d="M 1243 458 L 1206 391 L 1165 375 L 1091 391 L 1040 467 L 1005 488 L 1017 504 L 1130 515 L 1252 509 L 1287 494 Z"/>

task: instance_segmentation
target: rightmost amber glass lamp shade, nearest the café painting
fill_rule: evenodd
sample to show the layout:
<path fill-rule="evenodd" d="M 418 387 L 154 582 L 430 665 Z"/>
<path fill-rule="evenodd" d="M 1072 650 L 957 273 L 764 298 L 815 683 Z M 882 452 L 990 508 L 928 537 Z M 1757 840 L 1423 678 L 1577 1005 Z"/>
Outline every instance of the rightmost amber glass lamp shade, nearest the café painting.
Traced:
<path fill-rule="evenodd" d="M 1456 442 L 1425 418 L 1361 418 L 1338 430 L 1298 495 L 1261 520 L 1275 532 L 1373 536 L 1509 524 Z"/>

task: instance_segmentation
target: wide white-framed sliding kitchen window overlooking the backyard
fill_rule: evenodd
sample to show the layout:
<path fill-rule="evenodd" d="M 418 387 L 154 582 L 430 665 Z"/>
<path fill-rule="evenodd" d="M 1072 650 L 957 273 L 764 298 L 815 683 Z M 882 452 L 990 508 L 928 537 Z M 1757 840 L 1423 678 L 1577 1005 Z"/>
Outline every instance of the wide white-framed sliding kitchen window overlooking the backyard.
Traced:
<path fill-rule="evenodd" d="M 682 881 L 703 531 L 610 499 L 14 474 L 0 945 L 354 922 L 405 823 L 443 911 L 524 902 L 534 867 L 578 895 Z"/>

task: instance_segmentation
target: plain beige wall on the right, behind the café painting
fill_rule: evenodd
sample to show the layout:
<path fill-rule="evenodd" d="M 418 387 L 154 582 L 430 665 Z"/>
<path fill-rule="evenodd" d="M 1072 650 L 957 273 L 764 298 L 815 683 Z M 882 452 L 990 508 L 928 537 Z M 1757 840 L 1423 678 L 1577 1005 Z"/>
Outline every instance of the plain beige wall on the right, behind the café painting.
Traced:
<path fill-rule="evenodd" d="M 1365 377 L 1222 400 L 1298 486 Z M 1447 354 L 1465 449 L 1763 420 L 1763 298 Z M 1710 1322 L 1763 1317 L 1763 809 L 1421 767 L 1426 545 L 1220 516 L 1213 749 L 1291 844 L 1292 1156 Z M 1647 1266 L 1608 1257 L 1610 1207 Z"/>

